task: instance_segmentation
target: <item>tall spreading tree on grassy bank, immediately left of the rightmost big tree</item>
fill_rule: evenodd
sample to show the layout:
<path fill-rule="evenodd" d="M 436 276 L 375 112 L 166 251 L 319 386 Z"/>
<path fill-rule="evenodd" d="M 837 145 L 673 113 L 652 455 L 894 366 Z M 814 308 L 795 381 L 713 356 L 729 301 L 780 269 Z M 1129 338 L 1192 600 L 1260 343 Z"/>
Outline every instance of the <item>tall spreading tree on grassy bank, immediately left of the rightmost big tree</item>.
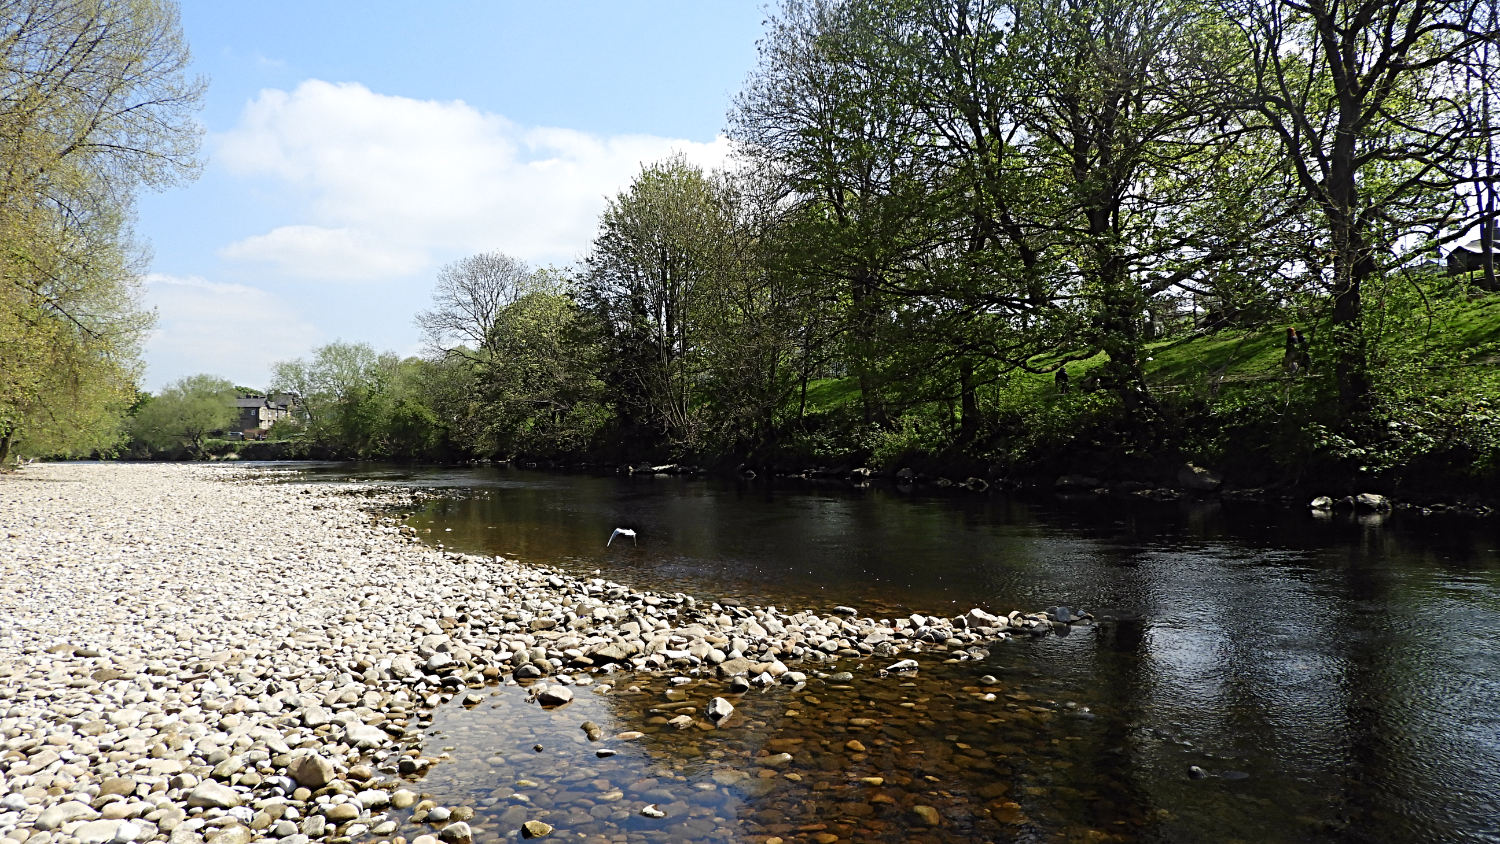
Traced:
<path fill-rule="evenodd" d="M 1040 207 L 1066 288 L 1126 400 L 1150 402 L 1143 316 L 1208 258 L 1186 223 L 1224 138 L 1208 78 L 1218 21 L 1180 0 L 1017 0 L 1010 37 L 1028 156 L 1060 202 Z M 1198 259 L 1198 261 L 1194 261 Z"/>

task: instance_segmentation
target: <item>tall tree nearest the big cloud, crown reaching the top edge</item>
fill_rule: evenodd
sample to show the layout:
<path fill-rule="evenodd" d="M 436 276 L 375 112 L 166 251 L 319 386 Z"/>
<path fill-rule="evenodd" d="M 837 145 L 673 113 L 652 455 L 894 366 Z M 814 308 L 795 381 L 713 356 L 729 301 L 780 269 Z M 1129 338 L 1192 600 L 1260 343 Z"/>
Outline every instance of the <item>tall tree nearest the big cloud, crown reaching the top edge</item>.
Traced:
<path fill-rule="evenodd" d="M 891 274 L 921 252 L 927 180 L 914 172 L 912 109 L 892 96 L 896 70 L 874 60 L 864 3 L 786 0 L 766 22 L 760 61 L 729 114 L 747 162 L 795 205 L 786 262 L 824 288 L 843 328 L 866 421 L 888 420 L 882 393 Z"/>

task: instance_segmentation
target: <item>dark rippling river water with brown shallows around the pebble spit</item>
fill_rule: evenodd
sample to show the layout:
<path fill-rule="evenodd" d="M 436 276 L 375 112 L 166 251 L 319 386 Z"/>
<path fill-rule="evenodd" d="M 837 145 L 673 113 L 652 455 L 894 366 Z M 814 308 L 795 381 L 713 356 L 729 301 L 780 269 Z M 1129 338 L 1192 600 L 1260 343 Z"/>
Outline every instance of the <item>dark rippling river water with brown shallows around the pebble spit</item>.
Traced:
<path fill-rule="evenodd" d="M 555 837 L 621 843 L 1500 841 L 1494 520 L 514 469 L 310 474 L 448 493 L 411 520 L 444 547 L 658 592 L 874 618 L 1056 604 L 1098 618 L 980 661 L 922 654 L 916 678 L 874 676 L 879 658 L 818 666 L 854 679 L 736 696 L 718 730 L 664 724 L 724 694 L 706 678 L 592 675 L 560 711 L 490 687 L 472 709 L 436 712 L 424 750 L 453 750 L 412 786 L 472 805 L 482 843 L 538 813 Z M 639 543 L 606 549 L 616 526 Z M 645 735 L 594 745 L 585 720 Z M 764 763 L 780 753 L 792 759 Z M 642 817 L 642 802 L 669 817 Z"/>

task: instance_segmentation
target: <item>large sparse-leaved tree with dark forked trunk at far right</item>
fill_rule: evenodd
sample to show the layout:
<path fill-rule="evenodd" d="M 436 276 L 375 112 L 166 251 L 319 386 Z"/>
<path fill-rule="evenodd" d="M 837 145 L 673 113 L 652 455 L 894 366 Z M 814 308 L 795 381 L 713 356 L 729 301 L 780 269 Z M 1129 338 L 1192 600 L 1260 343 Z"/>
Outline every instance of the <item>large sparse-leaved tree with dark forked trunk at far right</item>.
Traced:
<path fill-rule="evenodd" d="M 1286 202 L 1306 208 L 1305 261 L 1332 298 L 1340 409 L 1370 409 L 1365 292 L 1444 232 L 1470 228 L 1484 141 L 1464 63 L 1492 42 L 1492 0 L 1226 0 L 1244 58 L 1224 75 L 1250 127 L 1287 163 Z"/>

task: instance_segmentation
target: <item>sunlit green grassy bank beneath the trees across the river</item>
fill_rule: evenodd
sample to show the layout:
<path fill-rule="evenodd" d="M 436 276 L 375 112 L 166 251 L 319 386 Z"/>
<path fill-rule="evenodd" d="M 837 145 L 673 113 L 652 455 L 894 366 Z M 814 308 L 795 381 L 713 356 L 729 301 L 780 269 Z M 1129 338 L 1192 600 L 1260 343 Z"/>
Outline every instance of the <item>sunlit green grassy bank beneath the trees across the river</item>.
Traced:
<path fill-rule="evenodd" d="M 1414 298 L 1371 325 L 1376 402 L 1358 424 L 1338 420 L 1326 327 L 1311 336 L 1311 372 L 1282 366 L 1286 324 L 1194 331 L 1148 346 L 1149 403 L 1126 406 L 1098 376 L 1106 357 L 1011 372 L 980 388 L 981 423 L 963 436 L 952 399 L 891 411 L 861 427 L 858 379 L 808 385 L 801 436 L 782 462 L 860 463 L 884 471 L 1050 483 L 1065 474 L 1172 484 L 1185 462 L 1226 484 L 1262 489 L 1374 489 L 1408 496 L 1500 492 L 1500 297 Z"/>

